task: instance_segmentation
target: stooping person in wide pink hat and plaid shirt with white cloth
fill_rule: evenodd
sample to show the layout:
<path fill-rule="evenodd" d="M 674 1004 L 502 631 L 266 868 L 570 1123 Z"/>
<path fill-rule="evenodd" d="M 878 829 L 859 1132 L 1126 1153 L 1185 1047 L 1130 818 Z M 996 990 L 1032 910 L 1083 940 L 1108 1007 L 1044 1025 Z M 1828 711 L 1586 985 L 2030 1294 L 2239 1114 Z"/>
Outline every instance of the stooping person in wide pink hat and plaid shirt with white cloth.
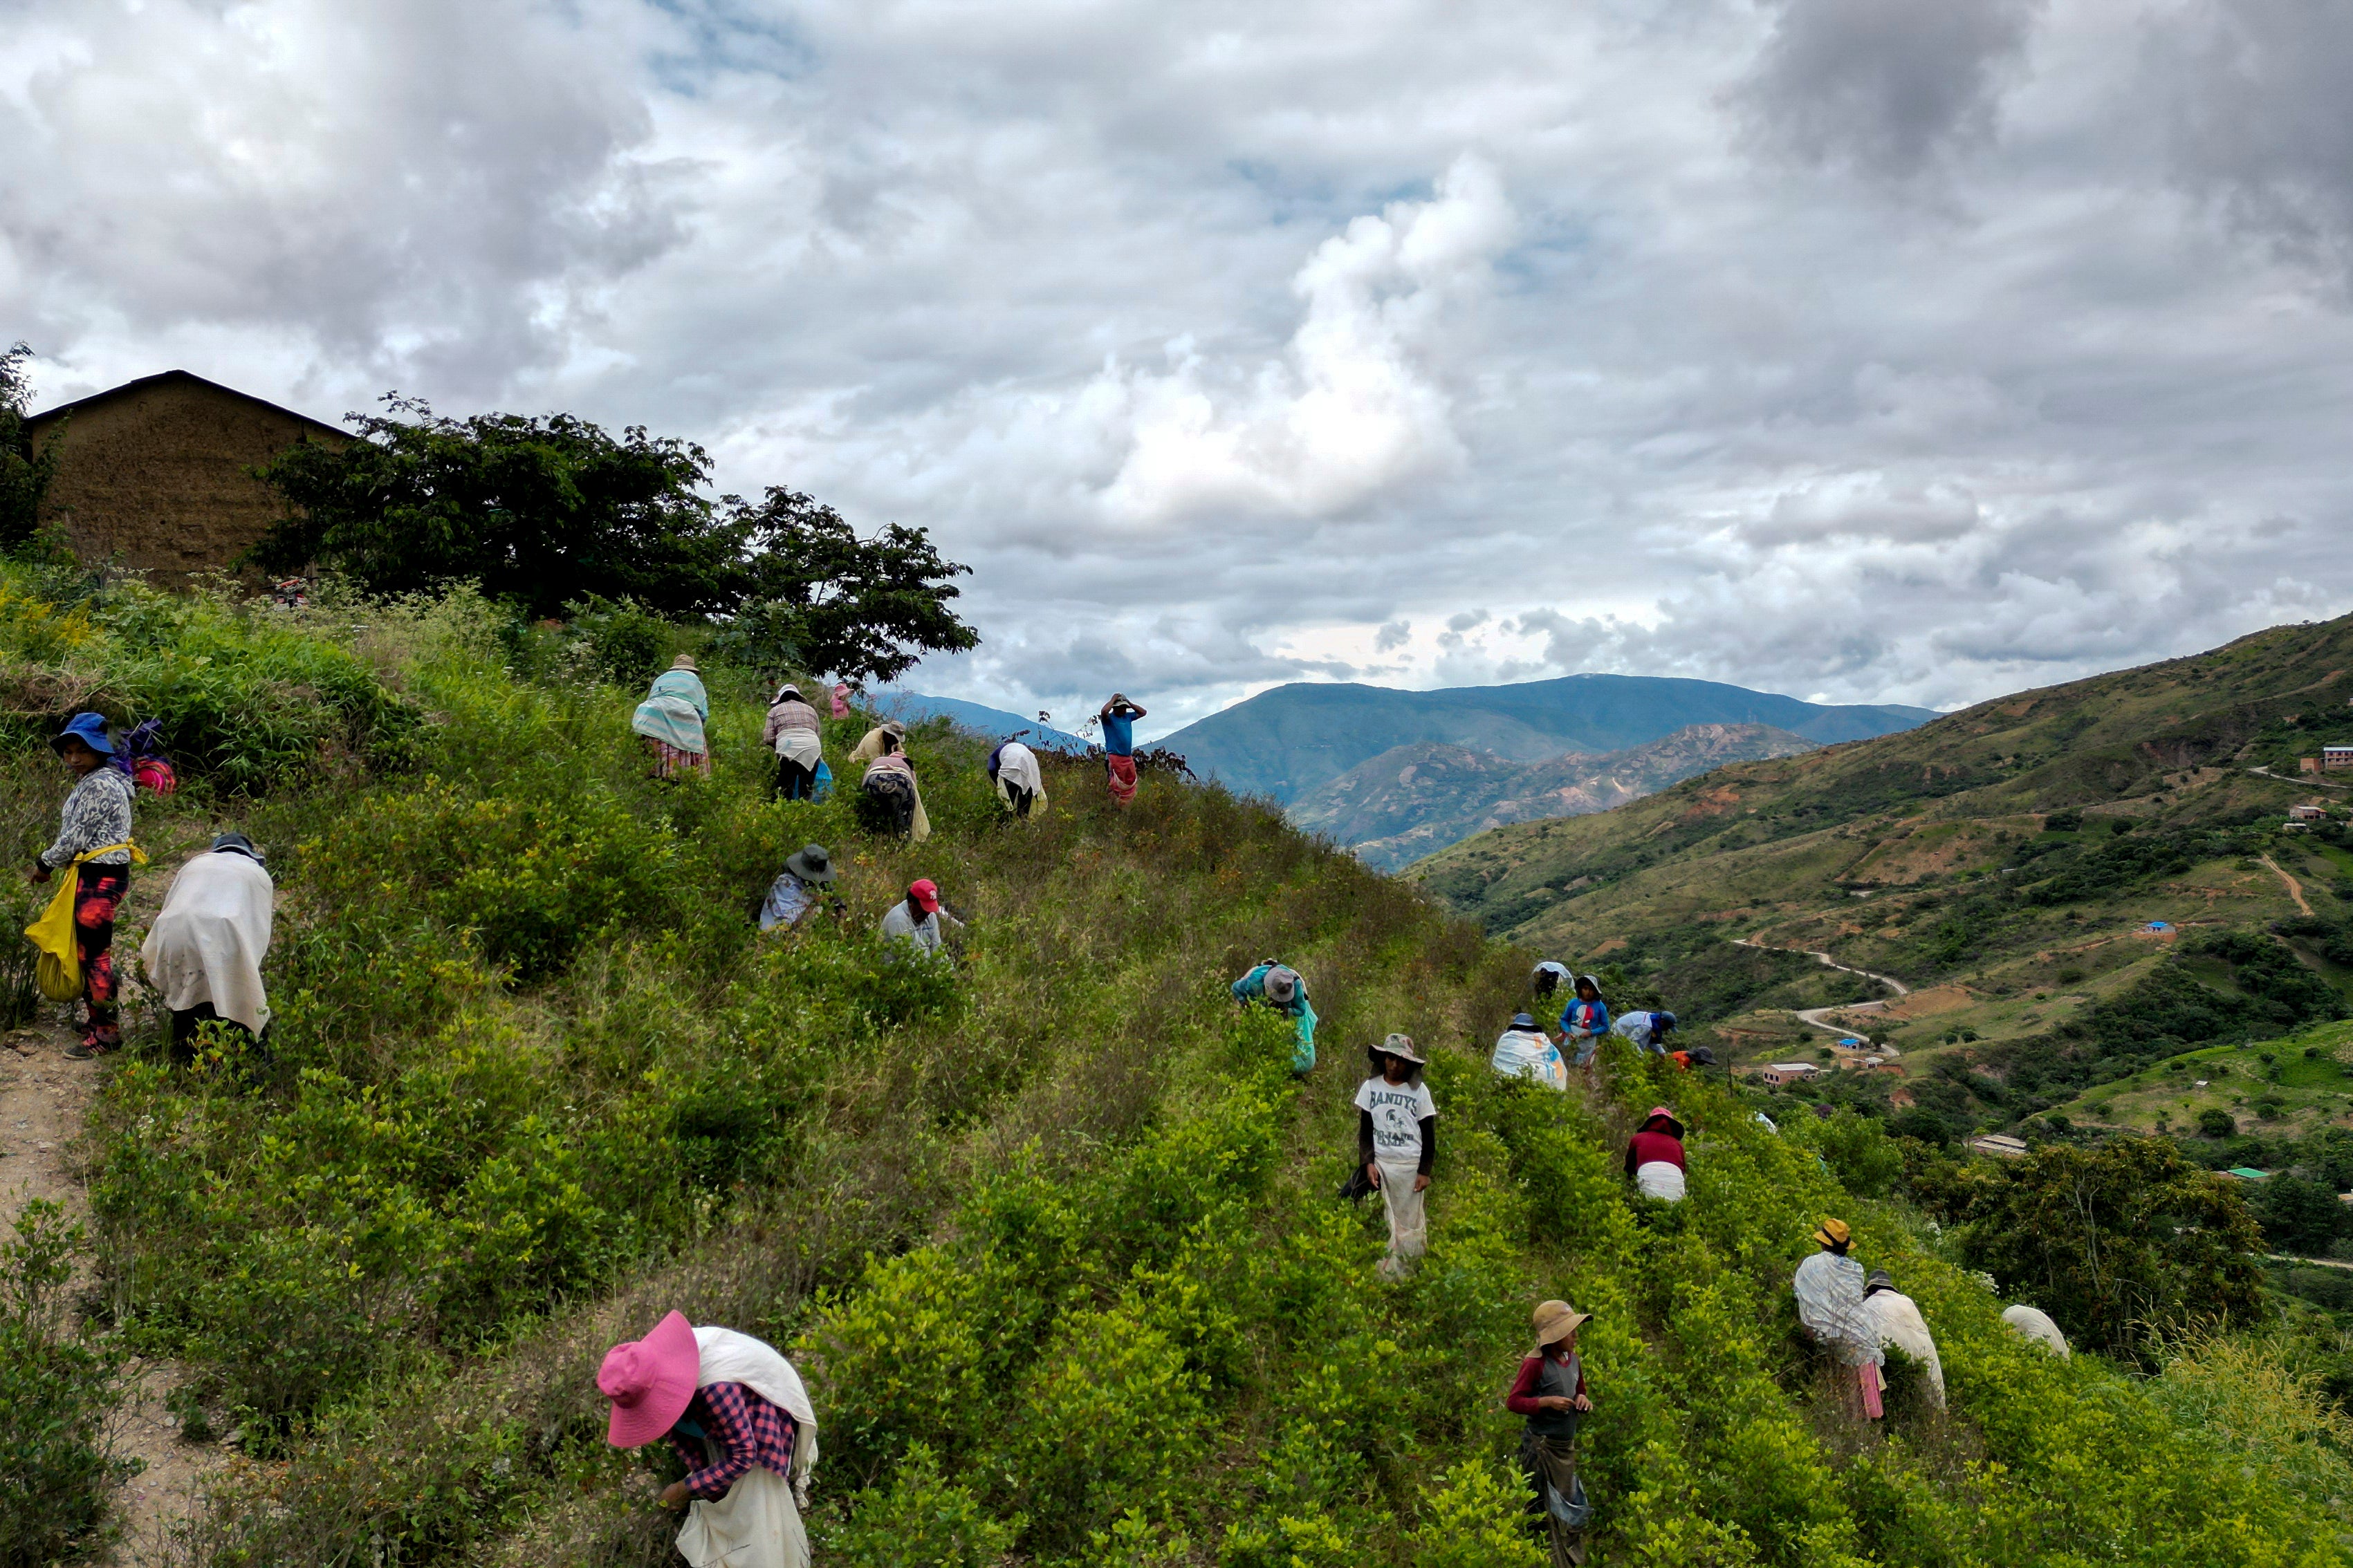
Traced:
<path fill-rule="evenodd" d="M 687 1509 L 678 1549 L 694 1568 L 807 1568 L 800 1507 L 816 1469 L 816 1413 L 800 1373 L 734 1328 L 694 1328 L 673 1312 L 642 1340 L 605 1352 L 595 1375 L 612 1401 L 605 1441 L 671 1439 L 687 1479 L 661 1507 Z"/>

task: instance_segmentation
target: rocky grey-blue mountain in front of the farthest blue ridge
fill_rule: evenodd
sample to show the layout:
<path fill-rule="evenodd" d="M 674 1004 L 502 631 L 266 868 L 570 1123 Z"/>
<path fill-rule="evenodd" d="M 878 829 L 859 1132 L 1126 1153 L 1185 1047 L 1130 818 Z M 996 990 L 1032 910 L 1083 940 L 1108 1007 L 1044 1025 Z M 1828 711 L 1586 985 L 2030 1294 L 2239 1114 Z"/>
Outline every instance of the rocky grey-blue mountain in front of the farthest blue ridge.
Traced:
<path fill-rule="evenodd" d="M 1793 757 L 1814 745 L 1769 724 L 1687 724 L 1624 752 L 1544 762 L 1461 745 L 1400 745 L 1301 795 L 1285 816 L 1365 865 L 1398 870 L 1487 827 L 1609 811 L 1727 762 Z"/>

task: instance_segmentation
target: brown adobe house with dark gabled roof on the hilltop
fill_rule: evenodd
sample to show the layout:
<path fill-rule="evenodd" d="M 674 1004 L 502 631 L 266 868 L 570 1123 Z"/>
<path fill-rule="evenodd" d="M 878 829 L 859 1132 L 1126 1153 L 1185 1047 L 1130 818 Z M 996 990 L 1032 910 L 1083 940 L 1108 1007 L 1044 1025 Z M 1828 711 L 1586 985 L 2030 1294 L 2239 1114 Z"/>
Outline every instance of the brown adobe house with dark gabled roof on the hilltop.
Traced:
<path fill-rule="evenodd" d="M 226 571 L 285 515 L 249 468 L 296 442 L 351 440 L 184 369 L 125 381 L 24 423 L 38 447 L 66 444 L 45 520 L 64 524 L 85 562 L 113 557 L 151 571 L 158 585 Z"/>

